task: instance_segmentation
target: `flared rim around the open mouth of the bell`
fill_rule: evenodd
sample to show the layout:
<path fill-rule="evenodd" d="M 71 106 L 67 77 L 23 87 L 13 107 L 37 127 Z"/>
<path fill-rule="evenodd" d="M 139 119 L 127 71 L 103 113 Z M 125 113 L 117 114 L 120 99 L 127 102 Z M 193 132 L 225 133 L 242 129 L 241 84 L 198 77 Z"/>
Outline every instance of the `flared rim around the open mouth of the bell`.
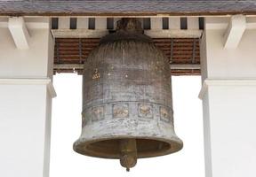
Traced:
<path fill-rule="evenodd" d="M 92 158 L 108 158 L 108 159 L 119 159 L 119 155 L 106 155 L 104 153 L 99 153 L 99 151 L 92 151 L 92 150 L 78 150 L 77 148 L 79 146 L 87 146 L 93 142 L 101 142 L 101 141 L 106 141 L 106 140 L 117 140 L 117 139 L 145 139 L 145 140 L 155 140 L 158 142 L 166 142 L 170 144 L 172 148 L 169 148 L 168 150 L 164 151 L 159 151 L 155 153 L 146 153 L 146 154 L 138 154 L 138 158 L 156 158 L 156 157 L 161 157 L 165 155 L 169 155 L 175 152 L 178 152 L 182 150 L 183 148 L 183 142 L 180 140 L 178 136 L 172 136 L 170 138 L 163 138 L 163 137 L 148 137 L 148 136 L 113 136 L 113 137 L 106 137 L 106 138 L 100 138 L 100 139 L 92 139 L 88 140 L 85 138 L 80 138 L 76 142 L 73 143 L 73 150 L 76 151 L 76 153 L 92 157 Z M 174 147 L 173 147 L 174 145 Z"/>

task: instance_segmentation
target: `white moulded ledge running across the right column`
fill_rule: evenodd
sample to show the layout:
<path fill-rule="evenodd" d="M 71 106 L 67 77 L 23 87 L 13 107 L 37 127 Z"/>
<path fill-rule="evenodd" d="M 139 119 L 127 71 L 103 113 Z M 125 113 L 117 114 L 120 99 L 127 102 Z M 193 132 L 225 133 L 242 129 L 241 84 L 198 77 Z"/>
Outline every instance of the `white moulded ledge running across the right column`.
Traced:
<path fill-rule="evenodd" d="M 204 98 L 204 94 L 209 86 L 256 86 L 255 79 L 206 79 L 202 85 L 202 89 L 199 92 L 198 97 Z"/>

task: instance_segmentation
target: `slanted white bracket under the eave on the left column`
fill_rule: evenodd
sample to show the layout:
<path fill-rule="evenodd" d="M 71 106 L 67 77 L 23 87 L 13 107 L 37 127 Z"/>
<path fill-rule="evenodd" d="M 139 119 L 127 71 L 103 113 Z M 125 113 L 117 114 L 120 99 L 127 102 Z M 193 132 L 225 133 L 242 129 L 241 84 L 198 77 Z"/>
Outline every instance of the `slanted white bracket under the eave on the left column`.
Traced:
<path fill-rule="evenodd" d="M 18 50 L 29 49 L 29 34 L 28 28 L 25 25 L 22 17 L 12 17 L 8 20 L 8 28 L 11 32 L 12 39 Z"/>

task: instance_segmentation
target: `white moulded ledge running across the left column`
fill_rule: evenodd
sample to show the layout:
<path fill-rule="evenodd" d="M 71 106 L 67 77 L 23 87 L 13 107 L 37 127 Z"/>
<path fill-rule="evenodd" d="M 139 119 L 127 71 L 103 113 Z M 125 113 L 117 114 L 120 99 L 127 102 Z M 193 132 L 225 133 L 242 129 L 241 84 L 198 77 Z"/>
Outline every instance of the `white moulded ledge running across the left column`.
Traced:
<path fill-rule="evenodd" d="M 0 85 L 46 85 L 52 97 L 57 96 L 50 78 L 0 78 Z"/>

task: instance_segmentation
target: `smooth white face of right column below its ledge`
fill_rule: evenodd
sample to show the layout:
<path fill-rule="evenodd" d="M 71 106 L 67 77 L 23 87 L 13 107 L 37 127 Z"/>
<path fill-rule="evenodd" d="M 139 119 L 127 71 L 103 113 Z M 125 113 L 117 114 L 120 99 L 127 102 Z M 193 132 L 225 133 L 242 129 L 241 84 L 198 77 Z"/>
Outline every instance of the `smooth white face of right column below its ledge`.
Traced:
<path fill-rule="evenodd" d="M 256 176 L 256 84 L 212 86 L 208 96 L 212 176 Z"/>

